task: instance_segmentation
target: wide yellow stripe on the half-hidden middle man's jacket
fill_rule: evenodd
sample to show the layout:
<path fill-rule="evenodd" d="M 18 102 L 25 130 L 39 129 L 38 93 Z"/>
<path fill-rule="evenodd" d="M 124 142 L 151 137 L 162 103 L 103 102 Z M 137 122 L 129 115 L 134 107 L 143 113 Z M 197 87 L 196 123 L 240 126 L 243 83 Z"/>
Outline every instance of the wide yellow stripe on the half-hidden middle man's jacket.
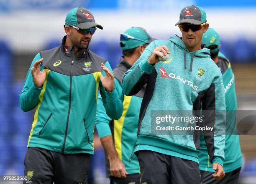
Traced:
<path fill-rule="evenodd" d="M 114 139 L 115 139 L 115 149 L 118 154 L 118 158 L 122 160 L 122 130 L 123 122 L 131 103 L 132 96 L 124 95 L 123 99 L 123 114 L 118 120 L 114 120 Z"/>

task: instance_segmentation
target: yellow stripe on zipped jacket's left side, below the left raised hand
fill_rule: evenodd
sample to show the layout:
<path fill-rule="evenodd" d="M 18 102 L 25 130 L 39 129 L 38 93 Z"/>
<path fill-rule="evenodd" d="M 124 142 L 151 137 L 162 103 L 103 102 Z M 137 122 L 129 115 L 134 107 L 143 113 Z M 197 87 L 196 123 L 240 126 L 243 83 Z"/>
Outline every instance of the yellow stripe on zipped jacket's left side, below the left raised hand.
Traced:
<path fill-rule="evenodd" d="M 27 147 L 29 146 L 29 142 L 30 142 L 30 139 L 31 139 L 31 136 L 33 134 L 33 129 L 37 123 L 37 120 L 38 120 L 38 110 L 41 106 L 41 103 L 43 101 L 43 98 L 44 98 L 44 92 L 46 90 L 46 84 L 47 84 L 47 80 L 48 80 L 48 75 L 49 75 L 49 72 L 50 70 L 48 69 L 44 69 L 46 71 L 46 77 L 45 77 L 45 81 L 44 81 L 44 87 L 43 87 L 43 90 L 41 90 L 41 93 L 39 94 L 39 100 L 38 100 L 38 104 L 37 104 L 37 107 L 36 107 L 36 112 L 35 112 L 35 115 L 34 115 L 34 121 L 32 123 L 32 128 L 31 128 L 31 131 L 30 131 L 30 134 L 29 134 L 29 137 L 28 137 L 28 145 Z"/>

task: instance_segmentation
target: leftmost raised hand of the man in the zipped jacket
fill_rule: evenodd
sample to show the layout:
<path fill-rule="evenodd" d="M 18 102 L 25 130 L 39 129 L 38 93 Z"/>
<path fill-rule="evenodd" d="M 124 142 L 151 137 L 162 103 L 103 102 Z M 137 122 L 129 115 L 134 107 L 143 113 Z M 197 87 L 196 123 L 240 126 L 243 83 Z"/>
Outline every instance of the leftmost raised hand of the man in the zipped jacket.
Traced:
<path fill-rule="evenodd" d="M 44 70 L 43 70 L 43 72 L 40 71 L 40 63 L 43 60 L 44 59 L 41 58 L 40 60 L 36 61 L 33 65 L 33 67 L 31 68 L 33 82 L 34 82 L 35 86 L 38 88 L 42 87 L 42 85 L 44 84 L 45 77 L 46 77 L 46 72 Z"/>

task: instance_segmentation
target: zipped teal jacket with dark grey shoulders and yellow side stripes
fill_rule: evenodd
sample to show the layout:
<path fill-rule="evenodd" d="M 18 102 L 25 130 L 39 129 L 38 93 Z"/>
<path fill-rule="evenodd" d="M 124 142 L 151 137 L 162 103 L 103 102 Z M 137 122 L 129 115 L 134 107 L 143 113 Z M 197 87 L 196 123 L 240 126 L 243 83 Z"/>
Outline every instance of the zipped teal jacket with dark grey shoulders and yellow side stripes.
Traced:
<path fill-rule="evenodd" d="M 19 96 L 20 107 L 30 111 L 36 107 L 28 147 L 38 147 L 64 154 L 93 154 L 93 131 L 100 94 L 107 114 L 119 119 L 123 103 L 116 90 L 106 92 L 100 81 L 105 76 L 100 65 L 107 60 L 90 50 L 82 49 L 74 55 L 73 46 L 64 46 L 42 51 L 33 59 L 44 58 L 40 67 L 46 71 L 46 79 L 41 88 L 33 83 L 31 67 Z"/>

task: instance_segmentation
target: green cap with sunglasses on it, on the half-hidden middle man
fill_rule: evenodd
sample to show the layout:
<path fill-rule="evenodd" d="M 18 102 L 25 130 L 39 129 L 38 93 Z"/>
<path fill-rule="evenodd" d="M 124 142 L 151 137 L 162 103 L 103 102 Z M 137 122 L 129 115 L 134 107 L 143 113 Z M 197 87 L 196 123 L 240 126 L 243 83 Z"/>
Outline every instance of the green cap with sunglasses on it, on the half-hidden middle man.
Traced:
<path fill-rule="evenodd" d="M 120 46 L 122 50 L 128 50 L 154 40 L 156 39 L 152 38 L 143 27 L 131 27 L 120 35 Z"/>

